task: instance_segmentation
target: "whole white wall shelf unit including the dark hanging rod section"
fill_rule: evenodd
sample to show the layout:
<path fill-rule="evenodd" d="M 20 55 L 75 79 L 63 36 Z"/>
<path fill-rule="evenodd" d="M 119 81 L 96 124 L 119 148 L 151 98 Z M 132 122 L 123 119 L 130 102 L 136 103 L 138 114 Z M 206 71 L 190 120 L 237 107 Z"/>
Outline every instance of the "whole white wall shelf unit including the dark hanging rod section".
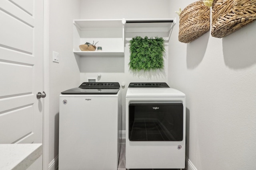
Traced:
<path fill-rule="evenodd" d="M 74 20 L 73 23 L 74 54 L 80 57 L 124 57 L 124 32 L 127 32 L 127 36 L 136 36 L 137 33 L 148 33 L 150 36 L 156 35 L 160 37 L 167 37 L 167 39 L 169 39 L 171 29 L 176 23 L 176 18 L 139 20 Z M 97 45 L 102 46 L 102 49 L 106 51 L 79 51 L 78 47 L 80 44 L 90 41 L 99 41 Z M 109 42 L 112 42 L 112 44 Z"/>

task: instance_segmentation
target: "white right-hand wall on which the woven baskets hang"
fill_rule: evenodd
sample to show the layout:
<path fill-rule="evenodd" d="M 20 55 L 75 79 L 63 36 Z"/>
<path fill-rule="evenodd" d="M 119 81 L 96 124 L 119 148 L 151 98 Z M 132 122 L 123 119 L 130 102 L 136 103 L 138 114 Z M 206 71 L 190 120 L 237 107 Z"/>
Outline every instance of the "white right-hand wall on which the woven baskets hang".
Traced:
<path fill-rule="evenodd" d="M 171 3 L 170 17 L 192 2 Z M 194 169 L 256 169 L 255 29 L 256 21 L 222 39 L 207 32 L 188 44 L 178 41 L 178 23 L 173 30 L 168 83 L 186 94 L 186 156 Z"/>

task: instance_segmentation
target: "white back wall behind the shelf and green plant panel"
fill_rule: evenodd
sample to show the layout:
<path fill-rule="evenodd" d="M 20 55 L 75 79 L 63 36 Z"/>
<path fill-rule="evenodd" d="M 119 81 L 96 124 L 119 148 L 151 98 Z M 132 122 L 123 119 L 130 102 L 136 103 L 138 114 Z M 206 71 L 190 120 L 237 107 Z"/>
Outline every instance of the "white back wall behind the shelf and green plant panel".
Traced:
<path fill-rule="evenodd" d="M 170 0 L 97 0 L 95 4 L 91 4 L 90 0 L 81 0 L 81 16 L 80 19 L 156 19 L 169 18 L 169 2 Z M 134 34 L 134 37 L 136 34 Z M 144 37 L 144 35 L 141 35 Z M 148 37 L 150 37 L 148 35 Z M 130 37 L 131 39 L 131 37 Z M 90 57 L 82 57 L 80 61 L 81 74 L 80 83 L 86 82 L 87 78 L 97 78 L 98 73 L 102 76 L 101 82 L 122 82 L 125 88 L 122 88 L 122 107 L 125 111 L 125 95 L 130 82 L 167 82 L 168 74 L 168 57 L 165 57 L 164 70 L 150 72 L 132 72 L 129 70 L 128 63 L 130 61 L 129 38 L 125 39 L 125 55 L 124 57 L 108 58 L 112 64 L 106 64 L 106 61 L 92 59 Z M 110 42 L 111 43 L 111 42 Z M 100 42 L 97 45 L 101 45 Z M 168 44 L 166 44 L 168 45 Z M 104 50 L 104 46 L 102 49 Z M 166 49 L 168 54 L 168 48 Z M 99 58 L 99 57 L 98 57 Z M 94 70 L 86 70 L 85 65 L 95 64 Z M 116 67 L 116 63 L 121 66 Z M 86 71 L 83 71 L 86 70 Z M 123 115 L 125 117 L 125 115 Z M 123 122 L 123 130 L 125 130 L 125 122 Z"/>

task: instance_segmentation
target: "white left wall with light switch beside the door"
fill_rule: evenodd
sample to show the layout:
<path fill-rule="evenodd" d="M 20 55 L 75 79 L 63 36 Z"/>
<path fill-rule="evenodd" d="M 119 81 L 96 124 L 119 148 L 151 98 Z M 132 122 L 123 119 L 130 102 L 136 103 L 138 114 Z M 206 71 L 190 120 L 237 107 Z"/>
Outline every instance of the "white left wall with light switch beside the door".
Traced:
<path fill-rule="evenodd" d="M 76 87 L 80 83 L 80 71 L 72 53 L 73 20 L 80 16 L 80 0 L 49 2 L 49 164 L 53 166 L 50 167 L 52 170 L 58 165 L 57 163 L 54 165 L 54 161 L 58 158 L 59 95 L 60 92 Z M 59 63 L 52 62 L 52 51 L 59 53 Z"/>

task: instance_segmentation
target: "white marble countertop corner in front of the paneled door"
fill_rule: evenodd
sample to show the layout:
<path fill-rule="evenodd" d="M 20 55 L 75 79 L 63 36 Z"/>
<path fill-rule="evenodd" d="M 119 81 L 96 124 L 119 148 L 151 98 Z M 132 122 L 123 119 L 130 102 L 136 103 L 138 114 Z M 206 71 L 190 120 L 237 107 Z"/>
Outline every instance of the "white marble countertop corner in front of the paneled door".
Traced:
<path fill-rule="evenodd" d="M 26 170 L 42 155 L 42 144 L 0 144 L 0 170 Z"/>

